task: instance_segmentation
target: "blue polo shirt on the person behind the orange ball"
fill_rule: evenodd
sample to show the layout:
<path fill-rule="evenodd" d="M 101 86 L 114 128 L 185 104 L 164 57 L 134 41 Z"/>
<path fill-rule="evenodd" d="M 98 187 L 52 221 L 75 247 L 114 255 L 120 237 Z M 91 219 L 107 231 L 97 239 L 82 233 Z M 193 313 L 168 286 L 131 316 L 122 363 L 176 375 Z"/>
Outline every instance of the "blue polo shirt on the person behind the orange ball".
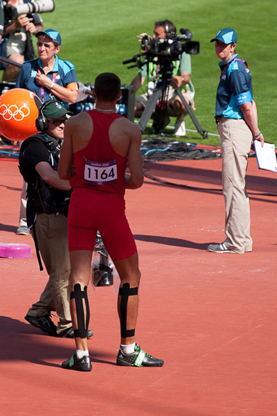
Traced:
<path fill-rule="evenodd" d="M 15 88 L 29 89 L 30 91 L 37 94 L 37 96 L 39 96 L 42 101 L 55 99 L 54 94 L 49 89 L 43 88 L 37 84 L 35 77 L 37 76 L 38 69 L 40 69 L 41 73 L 44 73 L 40 59 L 24 62 L 19 71 L 19 76 L 17 78 Z M 48 76 L 48 78 L 51 80 L 53 80 L 54 77 L 55 83 L 62 85 L 62 87 L 66 87 L 66 85 L 71 83 L 78 83 L 74 65 L 69 61 L 64 61 L 60 58 L 57 58 L 57 55 L 55 55 L 55 65 L 52 71 L 48 72 L 46 76 Z"/>

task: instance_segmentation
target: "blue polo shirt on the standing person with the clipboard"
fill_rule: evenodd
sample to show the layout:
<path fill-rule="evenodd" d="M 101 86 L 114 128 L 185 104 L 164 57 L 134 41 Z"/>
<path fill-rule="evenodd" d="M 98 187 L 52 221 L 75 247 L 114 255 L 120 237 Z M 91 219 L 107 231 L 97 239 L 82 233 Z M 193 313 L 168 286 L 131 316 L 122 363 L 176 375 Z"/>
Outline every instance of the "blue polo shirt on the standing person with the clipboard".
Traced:
<path fill-rule="evenodd" d="M 220 83 L 217 87 L 215 116 L 227 119 L 243 119 L 239 105 L 253 101 L 252 79 L 246 62 L 236 53 L 223 64 L 220 62 Z"/>

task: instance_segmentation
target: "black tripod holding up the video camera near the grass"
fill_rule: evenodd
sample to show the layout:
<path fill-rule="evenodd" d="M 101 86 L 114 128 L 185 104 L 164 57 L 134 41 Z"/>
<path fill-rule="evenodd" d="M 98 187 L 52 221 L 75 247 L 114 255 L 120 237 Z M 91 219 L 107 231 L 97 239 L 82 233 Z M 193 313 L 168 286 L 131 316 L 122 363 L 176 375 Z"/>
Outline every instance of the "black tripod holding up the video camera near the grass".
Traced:
<path fill-rule="evenodd" d="M 152 95 L 150 96 L 150 99 L 148 101 L 148 105 L 146 105 L 145 109 L 143 110 L 143 114 L 141 115 L 141 120 L 139 121 L 139 128 L 141 132 L 145 130 L 145 127 L 152 116 L 152 113 L 154 112 L 154 109 L 157 106 L 157 103 L 159 102 L 161 98 L 161 108 L 159 111 L 154 112 L 154 121 L 153 121 L 153 128 L 156 133 L 163 132 L 164 130 L 164 122 L 166 118 L 166 104 L 164 104 L 164 101 L 166 101 L 166 98 L 168 96 L 168 88 L 170 85 L 170 80 L 172 78 L 172 70 L 173 70 L 173 64 L 172 62 L 168 63 L 166 62 L 160 64 L 161 69 L 161 78 L 159 78 L 156 87 L 154 88 L 154 91 Z M 177 95 L 181 99 L 181 102 L 184 104 L 184 107 L 186 108 L 188 114 L 190 115 L 190 118 L 193 120 L 193 123 L 195 124 L 195 127 L 197 128 L 197 131 L 202 135 L 203 139 L 207 139 L 208 132 L 206 130 L 203 130 L 201 125 L 199 124 L 199 121 L 193 114 L 193 111 L 191 110 L 190 106 L 186 102 L 183 94 L 181 93 L 181 90 L 179 88 L 175 89 Z"/>

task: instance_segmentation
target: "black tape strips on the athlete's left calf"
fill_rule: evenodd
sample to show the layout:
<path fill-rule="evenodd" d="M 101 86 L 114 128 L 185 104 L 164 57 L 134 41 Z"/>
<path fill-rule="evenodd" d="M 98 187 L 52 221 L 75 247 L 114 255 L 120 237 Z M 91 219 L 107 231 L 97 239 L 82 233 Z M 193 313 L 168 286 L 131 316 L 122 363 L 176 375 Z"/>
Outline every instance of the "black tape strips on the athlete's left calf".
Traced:
<path fill-rule="evenodd" d="M 75 337 L 87 338 L 87 330 L 89 328 L 89 301 L 87 299 L 87 286 L 84 286 L 84 291 L 81 291 L 81 286 L 79 283 L 74 285 L 74 291 L 70 294 L 70 299 L 75 300 L 76 306 L 76 315 L 78 329 L 74 329 Z M 84 304 L 86 306 L 87 318 L 84 323 L 84 306 L 82 300 L 84 299 Z"/>

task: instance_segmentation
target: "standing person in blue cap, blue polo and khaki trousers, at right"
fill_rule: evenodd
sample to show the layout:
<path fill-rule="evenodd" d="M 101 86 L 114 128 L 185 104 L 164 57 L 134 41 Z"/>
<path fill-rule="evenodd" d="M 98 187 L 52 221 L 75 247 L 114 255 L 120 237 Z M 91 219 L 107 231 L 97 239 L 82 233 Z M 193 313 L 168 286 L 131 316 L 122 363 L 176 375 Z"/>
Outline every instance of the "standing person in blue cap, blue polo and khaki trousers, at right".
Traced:
<path fill-rule="evenodd" d="M 215 55 L 220 62 L 215 121 L 222 145 L 222 188 L 226 209 L 223 243 L 210 244 L 216 253 L 252 251 L 250 207 L 245 189 L 247 160 L 253 140 L 264 138 L 258 128 L 256 103 L 252 98 L 252 80 L 247 62 L 238 58 L 238 36 L 232 28 L 217 32 Z"/>

